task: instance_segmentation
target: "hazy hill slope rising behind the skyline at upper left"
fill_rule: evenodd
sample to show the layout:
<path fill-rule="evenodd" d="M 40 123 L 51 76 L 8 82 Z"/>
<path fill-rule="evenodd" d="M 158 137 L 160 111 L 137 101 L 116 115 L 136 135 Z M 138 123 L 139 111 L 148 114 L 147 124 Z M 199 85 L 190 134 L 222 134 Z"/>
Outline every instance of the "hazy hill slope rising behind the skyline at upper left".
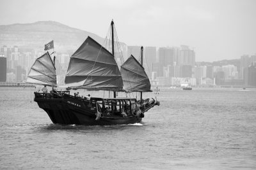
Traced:
<path fill-rule="evenodd" d="M 54 39 L 56 51 L 65 52 L 76 50 L 87 36 L 99 43 L 104 41 L 103 38 L 92 32 L 82 31 L 53 21 L 0 25 L 0 46 L 17 45 L 20 48 L 44 50 L 44 45 Z"/>

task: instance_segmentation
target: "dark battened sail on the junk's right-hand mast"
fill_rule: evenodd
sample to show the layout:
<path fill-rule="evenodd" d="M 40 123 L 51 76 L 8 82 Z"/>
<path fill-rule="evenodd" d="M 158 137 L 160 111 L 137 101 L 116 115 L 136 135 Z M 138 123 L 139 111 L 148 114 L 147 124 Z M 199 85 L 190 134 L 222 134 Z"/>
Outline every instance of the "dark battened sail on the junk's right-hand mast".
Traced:
<path fill-rule="evenodd" d="M 151 92 L 150 81 L 144 68 L 132 55 L 121 66 L 124 90 L 127 92 Z"/>

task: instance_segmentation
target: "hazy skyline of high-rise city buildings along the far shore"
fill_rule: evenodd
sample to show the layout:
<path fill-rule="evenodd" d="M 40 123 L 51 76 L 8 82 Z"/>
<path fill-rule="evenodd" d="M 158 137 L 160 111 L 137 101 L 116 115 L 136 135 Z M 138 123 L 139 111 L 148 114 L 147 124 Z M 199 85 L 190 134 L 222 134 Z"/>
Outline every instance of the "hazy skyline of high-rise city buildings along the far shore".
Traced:
<path fill-rule="evenodd" d="M 22 50 L 18 46 L 0 46 L 1 81 L 24 82 L 28 71 L 36 58 L 44 52 Z M 124 55 L 115 52 L 118 66 L 133 55 L 140 62 L 141 46 L 126 46 L 122 48 Z M 152 81 L 152 85 L 179 86 L 182 81 L 188 81 L 193 87 L 216 87 L 220 85 L 256 85 L 256 55 L 242 55 L 240 60 L 227 62 L 195 62 L 195 52 L 188 46 L 161 47 L 157 49 L 145 46 L 143 67 Z M 147 55 L 147 59 L 145 59 Z M 65 85 L 70 55 L 55 53 L 56 75 L 59 85 Z M 124 57 L 124 58 L 123 58 Z M 4 69 L 5 67 L 5 69 Z M 7 71 L 7 72 L 6 72 Z"/>

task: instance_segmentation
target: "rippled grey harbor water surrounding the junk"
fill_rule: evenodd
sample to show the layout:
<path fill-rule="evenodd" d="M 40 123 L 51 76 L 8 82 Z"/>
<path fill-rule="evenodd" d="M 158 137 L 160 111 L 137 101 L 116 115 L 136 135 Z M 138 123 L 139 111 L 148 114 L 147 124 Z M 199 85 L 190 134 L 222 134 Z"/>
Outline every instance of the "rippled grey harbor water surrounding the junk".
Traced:
<path fill-rule="evenodd" d="M 0 169 L 256 169 L 256 89 L 161 89 L 141 124 L 89 127 L 52 124 L 34 90 L 0 88 Z"/>

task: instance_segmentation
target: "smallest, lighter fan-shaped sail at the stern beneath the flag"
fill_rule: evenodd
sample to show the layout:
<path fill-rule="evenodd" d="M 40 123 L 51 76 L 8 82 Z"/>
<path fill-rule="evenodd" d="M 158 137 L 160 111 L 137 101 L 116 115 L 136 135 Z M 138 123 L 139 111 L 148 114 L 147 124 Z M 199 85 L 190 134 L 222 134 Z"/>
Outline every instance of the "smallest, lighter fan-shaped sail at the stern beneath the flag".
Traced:
<path fill-rule="evenodd" d="M 36 59 L 28 73 L 27 82 L 56 87 L 56 70 L 48 52 Z"/>

